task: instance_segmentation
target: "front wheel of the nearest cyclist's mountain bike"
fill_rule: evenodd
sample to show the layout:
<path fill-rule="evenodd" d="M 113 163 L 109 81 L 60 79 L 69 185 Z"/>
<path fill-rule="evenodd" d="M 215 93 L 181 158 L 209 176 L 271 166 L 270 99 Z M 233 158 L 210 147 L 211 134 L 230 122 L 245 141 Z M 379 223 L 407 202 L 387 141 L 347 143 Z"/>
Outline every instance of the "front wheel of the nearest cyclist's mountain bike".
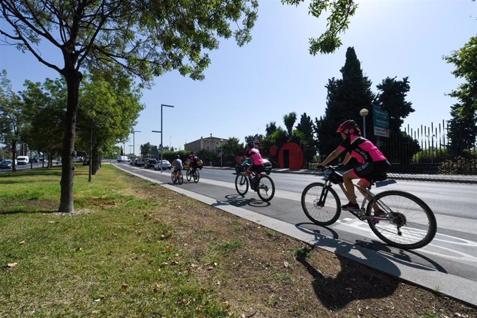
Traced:
<path fill-rule="evenodd" d="M 301 193 L 301 207 L 310 221 L 323 226 L 335 223 L 342 211 L 336 191 L 324 183 L 306 186 Z"/>

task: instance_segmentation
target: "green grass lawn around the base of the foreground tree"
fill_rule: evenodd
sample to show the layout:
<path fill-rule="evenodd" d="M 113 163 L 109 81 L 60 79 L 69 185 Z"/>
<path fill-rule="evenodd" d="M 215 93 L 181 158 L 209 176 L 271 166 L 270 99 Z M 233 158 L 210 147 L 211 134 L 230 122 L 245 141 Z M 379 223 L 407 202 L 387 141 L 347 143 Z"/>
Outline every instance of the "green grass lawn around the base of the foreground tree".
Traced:
<path fill-rule="evenodd" d="M 64 215 L 60 178 L 61 167 L 0 175 L 0 317 L 228 317 L 161 221 L 167 199 L 135 195 L 157 185 L 111 165 L 88 183 L 77 166 Z"/>

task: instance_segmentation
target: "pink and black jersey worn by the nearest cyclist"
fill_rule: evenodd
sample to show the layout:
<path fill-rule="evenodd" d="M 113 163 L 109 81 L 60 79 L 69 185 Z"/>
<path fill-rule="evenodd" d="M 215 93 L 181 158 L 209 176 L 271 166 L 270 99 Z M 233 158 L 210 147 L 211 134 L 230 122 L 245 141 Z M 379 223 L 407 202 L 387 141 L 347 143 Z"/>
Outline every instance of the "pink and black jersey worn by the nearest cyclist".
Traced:
<path fill-rule="evenodd" d="M 359 135 L 350 135 L 350 138 L 343 140 L 338 149 L 342 151 L 347 150 L 359 163 L 386 160 L 386 157 L 380 149 L 377 149 L 373 142 Z"/>

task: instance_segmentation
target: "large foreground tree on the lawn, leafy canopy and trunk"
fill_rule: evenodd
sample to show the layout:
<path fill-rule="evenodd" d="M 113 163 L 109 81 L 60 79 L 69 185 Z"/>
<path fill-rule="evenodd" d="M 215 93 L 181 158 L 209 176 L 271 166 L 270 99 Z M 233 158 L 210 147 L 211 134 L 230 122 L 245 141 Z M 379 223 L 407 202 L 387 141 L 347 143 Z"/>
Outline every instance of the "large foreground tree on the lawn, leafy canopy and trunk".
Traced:
<path fill-rule="evenodd" d="M 178 70 L 202 79 L 219 38 L 250 41 L 256 0 L 2 0 L 0 34 L 64 76 L 68 88 L 59 212 L 73 212 L 75 128 L 82 71 L 120 66 L 143 84 Z M 234 26 L 233 28 L 231 26 Z M 50 60 L 40 42 L 62 61 Z"/>

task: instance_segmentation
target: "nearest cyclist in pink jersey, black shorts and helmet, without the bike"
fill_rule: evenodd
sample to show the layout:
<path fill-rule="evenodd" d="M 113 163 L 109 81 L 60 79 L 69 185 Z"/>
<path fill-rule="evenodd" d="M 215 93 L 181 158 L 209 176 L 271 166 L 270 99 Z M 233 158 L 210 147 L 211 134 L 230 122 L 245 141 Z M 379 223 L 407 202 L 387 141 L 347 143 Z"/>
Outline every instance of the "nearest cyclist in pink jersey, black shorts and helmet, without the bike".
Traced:
<path fill-rule="evenodd" d="M 343 174 L 343 183 L 348 192 L 350 202 L 346 205 L 342 205 L 342 209 L 359 212 L 355 188 L 353 187 L 353 179 L 361 179 L 357 183 L 359 187 L 368 187 L 371 185 L 371 180 L 375 176 L 386 173 L 391 165 L 373 142 L 361 137 L 361 131 L 354 120 L 346 120 L 346 122 L 339 125 L 336 132 L 341 133 L 344 140 L 335 151 L 330 153 L 324 162 L 321 162 L 321 169 L 324 169 L 326 165 L 337 158 L 343 151 L 347 151 L 347 153 L 340 165 L 346 165 L 351 158 L 356 158 L 359 162 L 359 166 Z M 359 191 L 363 195 L 366 195 L 362 189 L 359 189 Z M 386 212 L 380 210 L 377 205 L 373 205 L 373 209 L 375 210 L 375 215 L 386 216 Z"/>

